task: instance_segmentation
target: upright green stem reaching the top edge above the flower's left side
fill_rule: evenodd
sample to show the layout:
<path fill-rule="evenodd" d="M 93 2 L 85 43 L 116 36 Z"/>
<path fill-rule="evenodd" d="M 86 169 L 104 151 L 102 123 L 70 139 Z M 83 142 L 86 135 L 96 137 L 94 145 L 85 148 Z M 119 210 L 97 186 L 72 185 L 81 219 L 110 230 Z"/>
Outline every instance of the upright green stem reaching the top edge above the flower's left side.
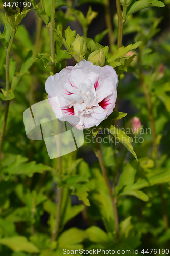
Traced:
<path fill-rule="evenodd" d="M 50 51 L 51 51 L 51 57 L 54 60 L 55 59 L 55 51 L 54 51 L 54 18 L 55 18 L 55 4 L 56 0 L 52 0 L 52 9 L 51 9 L 51 19 L 50 19 Z"/>

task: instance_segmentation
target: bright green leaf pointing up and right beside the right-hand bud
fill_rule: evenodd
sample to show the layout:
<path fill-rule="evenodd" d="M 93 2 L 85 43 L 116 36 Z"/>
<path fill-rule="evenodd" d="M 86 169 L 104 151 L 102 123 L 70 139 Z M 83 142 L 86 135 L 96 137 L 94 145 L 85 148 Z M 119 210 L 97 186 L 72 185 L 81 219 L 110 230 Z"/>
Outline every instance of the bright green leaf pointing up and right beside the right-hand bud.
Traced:
<path fill-rule="evenodd" d="M 138 1 L 143 1 L 143 0 L 138 0 Z M 148 1 L 148 0 L 147 0 Z M 108 59 L 108 63 L 111 63 L 112 61 L 116 59 L 123 58 L 125 54 L 127 54 L 129 51 L 136 49 L 138 46 L 141 45 L 142 42 L 135 42 L 135 44 L 130 44 L 129 46 L 122 46 L 120 47 L 114 54 L 113 56 Z"/>

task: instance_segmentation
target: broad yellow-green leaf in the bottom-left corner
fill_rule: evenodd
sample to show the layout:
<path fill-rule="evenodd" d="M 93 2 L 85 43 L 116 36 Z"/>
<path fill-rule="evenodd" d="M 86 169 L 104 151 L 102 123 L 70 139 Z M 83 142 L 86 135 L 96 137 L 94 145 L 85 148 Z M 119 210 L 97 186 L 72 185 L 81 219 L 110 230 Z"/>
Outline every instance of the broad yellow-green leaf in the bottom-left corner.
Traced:
<path fill-rule="evenodd" d="M 0 244 L 8 246 L 12 251 L 25 251 L 28 253 L 39 253 L 39 249 L 23 236 L 13 236 L 0 239 Z"/>

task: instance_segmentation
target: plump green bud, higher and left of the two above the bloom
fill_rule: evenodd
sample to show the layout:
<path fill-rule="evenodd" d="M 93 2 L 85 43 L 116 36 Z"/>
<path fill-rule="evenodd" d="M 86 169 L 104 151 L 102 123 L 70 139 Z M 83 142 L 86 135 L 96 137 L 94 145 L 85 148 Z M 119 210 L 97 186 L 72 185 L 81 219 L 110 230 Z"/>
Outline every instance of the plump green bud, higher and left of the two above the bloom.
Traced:
<path fill-rule="evenodd" d="M 78 56 L 85 54 L 86 52 L 86 42 L 83 36 L 76 35 L 74 42 L 72 43 L 73 50 Z"/>

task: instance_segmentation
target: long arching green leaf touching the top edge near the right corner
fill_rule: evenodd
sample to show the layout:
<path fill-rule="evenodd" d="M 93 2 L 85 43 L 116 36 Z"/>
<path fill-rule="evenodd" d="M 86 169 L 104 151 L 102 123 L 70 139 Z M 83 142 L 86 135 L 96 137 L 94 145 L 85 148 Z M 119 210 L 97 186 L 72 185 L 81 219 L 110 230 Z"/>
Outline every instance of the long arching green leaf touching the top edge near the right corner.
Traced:
<path fill-rule="evenodd" d="M 153 7 L 153 6 L 163 7 L 165 5 L 158 0 L 138 0 L 131 6 L 131 8 L 127 13 L 127 16 L 129 16 L 132 13 L 138 12 L 142 9 Z"/>

